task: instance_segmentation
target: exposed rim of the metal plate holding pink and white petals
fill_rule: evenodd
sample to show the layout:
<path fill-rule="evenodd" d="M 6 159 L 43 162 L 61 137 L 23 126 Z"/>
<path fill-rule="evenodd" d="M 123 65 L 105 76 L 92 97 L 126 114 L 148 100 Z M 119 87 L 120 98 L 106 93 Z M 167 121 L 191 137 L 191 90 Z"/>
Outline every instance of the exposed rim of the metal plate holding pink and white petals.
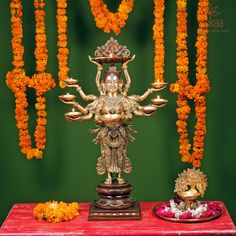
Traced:
<path fill-rule="evenodd" d="M 210 217 L 206 217 L 206 218 L 198 218 L 198 219 L 176 219 L 176 218 L 165 217 L 165 216 L 159 215 L 156 211 L 162 205 L 163 205 L 163 203 L 156 205 L 153 208 L 153 210 L 152 210 L 153 214 L 155 216 L 163 219 L 163 220 L 168 220 L 168 221 L 177 222 L 177 223 L 199 223 L 199 222 L 206 222 L 206 221 L 214 220 L 214 219 L 218 218 L 222 214 L 222 210 L 219 209 L 218 210 L 218 214 L 215 215 L 215 216 L 210 216 Z"/>

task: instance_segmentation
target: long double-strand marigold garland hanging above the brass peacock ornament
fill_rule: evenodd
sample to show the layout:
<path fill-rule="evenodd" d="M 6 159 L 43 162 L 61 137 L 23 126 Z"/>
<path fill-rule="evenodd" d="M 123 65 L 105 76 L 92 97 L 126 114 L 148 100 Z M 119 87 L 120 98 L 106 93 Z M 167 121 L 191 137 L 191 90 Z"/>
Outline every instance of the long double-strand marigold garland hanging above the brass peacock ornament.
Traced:
<path fill-rule="evenodd" d="M 187 0 L 177 0 L 177 81 L 170 89 L 178 93 L 176 109 L 178 121 L 179 153 L 183 162 L 192 163 L 194 167 L 201 166 L 203 157 L 204 136 L 206 134 L 206 102 L 205 93 L 210 90 L 207 76 L 207 34 L 208 34 L 208 0 L 199 0 L 197 10 L 197 60 L 196 84 L 192 86 L 188 79 L 188 48 L 187 48 Z M 188 99 L 193 99 L 195 104 L 196 125 L 193 138 L 193 151 L 190 153 L 191 144 L 188 139 L 187 120 L 190 114 Z"/>

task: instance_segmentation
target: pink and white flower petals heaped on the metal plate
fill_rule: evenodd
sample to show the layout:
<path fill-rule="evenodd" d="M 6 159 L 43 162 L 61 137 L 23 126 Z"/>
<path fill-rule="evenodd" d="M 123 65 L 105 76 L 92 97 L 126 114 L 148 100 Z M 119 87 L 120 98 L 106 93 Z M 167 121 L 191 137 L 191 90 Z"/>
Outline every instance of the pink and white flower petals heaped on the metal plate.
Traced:
<path fill-rule="evenodd" d="M 204 219 L 219 215 L 220 209 L 213 202 L 183 201 L 173 198 L 154 209 L 158 216 L 174 219 Z"/>

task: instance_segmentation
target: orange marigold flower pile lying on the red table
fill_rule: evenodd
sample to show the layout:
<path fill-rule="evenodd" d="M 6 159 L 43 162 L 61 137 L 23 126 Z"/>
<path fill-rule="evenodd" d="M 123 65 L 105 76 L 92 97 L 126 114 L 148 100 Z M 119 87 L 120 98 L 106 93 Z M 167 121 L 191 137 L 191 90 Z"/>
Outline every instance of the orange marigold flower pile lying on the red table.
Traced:
<path fill-rule="evenodd" d="M 50 223 L 69 221 L 79 215 L 79 204 L 50 201 L 39 203 L 34 208 L 34 217 Z"/>

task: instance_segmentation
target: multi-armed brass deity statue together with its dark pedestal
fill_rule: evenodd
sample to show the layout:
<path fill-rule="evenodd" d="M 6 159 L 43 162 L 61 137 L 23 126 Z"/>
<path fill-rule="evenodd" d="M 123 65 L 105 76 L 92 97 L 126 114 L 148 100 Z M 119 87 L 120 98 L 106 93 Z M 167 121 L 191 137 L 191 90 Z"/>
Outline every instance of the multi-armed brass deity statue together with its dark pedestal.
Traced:
<path fill-rule="evenodd" d="M 98 209 L 94 214 L 99 217 L 104 216 L 104 214 L 116 217 L 120 214 L 120 218 L 122 218 L 123 212 L 118 213 L 116 209 L 130 209 L 135 205 L 137 208 L 135 201 L 129 198 L 132 186 L 122 177 L 122 172 L 130 173 L 132 171 L 131 162 L 127 156 L 127 145 L 129 141 L 134 140 L 132 137 L 134 131 L 128 122 L 132 120 L 134 115 L 151 116 L 155 114 L 158 108 L 167 103 L 167 100 L 158 96 L 151 100 L 152 104 L 150 105 L 141 106 L 139 104 L 153 92 L 165 88 L 166 83 L 164 82 L 154 83 L 153 87 L 141 96 L 128 95 L 131 79 L 127 68 L 128 63 L 134 58 L 135 56 L 131 57 L 125 46 L 119 45 L 116 40 L 111 38 L 105 45 L 97 48 L 94 58 L 89 56 L 89 60 L 97 65 L 95 80 L 99 94 L 97 96 L 86 95 L 77 84 L 77 80 L 65 79 L 64 82 L 67 87 L 75 88 L 81 98 L 89 104 L 86 107 L 81 106 L 75 102 L 75 96 L 71 94 L 60 96 L 61 101 L 74 106 L 71 112 L 65 114 L 67 120 L 83 121 L 94 118 L 96 122 L 97 129 L 90 132 L 97 134 L 94 142 L 101 146 L 97 173 L 99 175 L 107 173 L 107 178 L 97 188 L 100 199 L 95 201 L 95 207 L 111 210 L 111 212 L 104 213 Z M 121 79 L 121 72 L 116 66 L 118 63 L 122 63 L 124 81 Z M 104 79 L 102 79 L 103 64 L 110 64 L 105 71 Z M 136 213 L 127 213 L 126 211 L 125 214 L 126 216 L 132 214 L 134 216 Z"/>

